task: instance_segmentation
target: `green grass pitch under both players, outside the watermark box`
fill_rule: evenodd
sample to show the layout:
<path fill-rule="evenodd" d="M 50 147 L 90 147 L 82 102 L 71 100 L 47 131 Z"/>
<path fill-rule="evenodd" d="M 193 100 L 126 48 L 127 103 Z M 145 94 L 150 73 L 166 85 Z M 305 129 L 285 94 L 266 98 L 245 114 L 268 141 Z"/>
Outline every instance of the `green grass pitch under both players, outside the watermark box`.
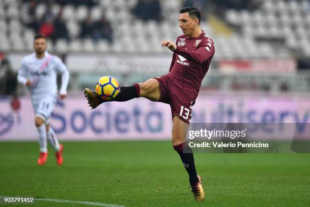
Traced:
<path fill-rule="evenodd" d="M 195 202 L 170 142 L 64 142 L 64 164 L 38 166 L 37 142 L 0 143 L 0 196 L 124 206 L 309 206 L 310 154 L 196 153 Z M 37 200 L 0 206 L 90 206 Z"/>

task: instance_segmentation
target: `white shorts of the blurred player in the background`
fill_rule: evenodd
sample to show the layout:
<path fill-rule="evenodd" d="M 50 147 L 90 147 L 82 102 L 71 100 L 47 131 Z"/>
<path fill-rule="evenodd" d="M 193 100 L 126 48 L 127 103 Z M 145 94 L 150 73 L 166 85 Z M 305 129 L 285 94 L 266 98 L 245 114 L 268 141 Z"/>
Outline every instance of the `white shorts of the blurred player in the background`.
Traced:
<path fill-rule="evenodd" d="M 34 115 L 41 117 L 47 124 L 56 106 L 56 101 L 57 97 L 55 96 L 46 96 L 40 99 L 33 99 L 32 107 Z"/>

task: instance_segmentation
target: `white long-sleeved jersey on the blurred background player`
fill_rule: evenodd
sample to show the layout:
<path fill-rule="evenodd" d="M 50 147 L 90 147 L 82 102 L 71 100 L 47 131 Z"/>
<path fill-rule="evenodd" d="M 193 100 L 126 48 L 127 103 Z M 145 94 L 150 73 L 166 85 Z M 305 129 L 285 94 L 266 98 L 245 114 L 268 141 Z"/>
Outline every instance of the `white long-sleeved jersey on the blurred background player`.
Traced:
<path fill-rule="evenodd" d="M 40 99 L 46 96 L 57 96 L 57 72 L 61 73 L 60 94 L 67 94 L 69 72 L 66 65 L 56 55 L 47 51 L 43 58 L 37 58 L 35 53 L 23 58 L 18 72 L 18 81 L 26 84 L 31 81 L 31 99 Z"/>

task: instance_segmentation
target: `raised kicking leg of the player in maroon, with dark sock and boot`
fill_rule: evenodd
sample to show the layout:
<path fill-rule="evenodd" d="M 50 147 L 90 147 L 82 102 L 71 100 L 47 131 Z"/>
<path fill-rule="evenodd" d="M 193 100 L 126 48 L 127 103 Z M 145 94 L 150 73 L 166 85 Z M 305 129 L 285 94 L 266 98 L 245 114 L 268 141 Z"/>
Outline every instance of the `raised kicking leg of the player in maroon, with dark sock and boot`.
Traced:
<path fill-rule="evenodd" d="M 101 103 L 107 101 L 128 101 L 133 98 L 145 97 L 153 101 L 160 99 L 160 84 L 156 79 L 149 79 L 144 83 L 137 83 L 133 86 L 121 87 L 120 93 L 112 100 L 103 100 L 96 92 L 89 88 L 84 90 L 84 95 L 92 109 L 97 108 Z"/>

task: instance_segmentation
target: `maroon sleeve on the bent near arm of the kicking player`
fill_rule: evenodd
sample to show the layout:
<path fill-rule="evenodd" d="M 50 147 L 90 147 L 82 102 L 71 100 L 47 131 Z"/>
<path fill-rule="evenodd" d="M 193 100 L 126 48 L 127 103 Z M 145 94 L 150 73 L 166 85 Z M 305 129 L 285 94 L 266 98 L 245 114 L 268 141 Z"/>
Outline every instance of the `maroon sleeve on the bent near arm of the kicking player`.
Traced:
<path fill-rule="evenodd" d="M 182 47 L 176 47 L 173 50 L 174 53 L 182 55 L 186 59 L 193 60 L 202 64 L 207 59 L 212 57 L 215 53 L 213 42 L 208 42 L 207 38 L 204 38 L 203 41 L 199 44 L 200 48 L 197 51 L 188 50 Z M 210 46 L 211 45 L 211 46 Z"/>

